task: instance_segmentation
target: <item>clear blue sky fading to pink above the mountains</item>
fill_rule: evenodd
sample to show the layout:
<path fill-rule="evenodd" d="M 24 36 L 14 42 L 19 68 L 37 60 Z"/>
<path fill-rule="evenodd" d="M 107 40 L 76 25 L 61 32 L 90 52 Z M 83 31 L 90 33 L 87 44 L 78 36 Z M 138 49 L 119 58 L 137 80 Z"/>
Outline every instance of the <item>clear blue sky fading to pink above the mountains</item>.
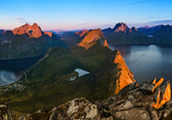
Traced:
<path fill-rule="evenodd" d="M 0 28 L 37 23 L 47 29 L 172 24 L 172 0 L 0 0 Z"/>

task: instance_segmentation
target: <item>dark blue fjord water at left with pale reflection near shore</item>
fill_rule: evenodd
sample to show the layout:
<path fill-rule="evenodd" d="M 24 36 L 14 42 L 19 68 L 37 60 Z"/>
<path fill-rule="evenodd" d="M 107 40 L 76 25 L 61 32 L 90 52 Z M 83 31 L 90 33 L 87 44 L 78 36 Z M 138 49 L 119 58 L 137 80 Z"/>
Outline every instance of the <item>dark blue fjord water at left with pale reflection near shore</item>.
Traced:
<path fill-rule="evenodd" d="M 36 63 L 43 56 L 0 60 L 0 86 L 13 83 L 21 79 L 22 71 Z"/>

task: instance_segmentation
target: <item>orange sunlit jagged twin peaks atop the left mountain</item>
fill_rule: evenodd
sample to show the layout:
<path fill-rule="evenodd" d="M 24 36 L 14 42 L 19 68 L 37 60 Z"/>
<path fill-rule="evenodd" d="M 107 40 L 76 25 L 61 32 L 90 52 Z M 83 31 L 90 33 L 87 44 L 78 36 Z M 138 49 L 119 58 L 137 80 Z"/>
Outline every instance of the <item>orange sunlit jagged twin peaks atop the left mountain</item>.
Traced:
<path fill-rule="evenodd" d="M 27 34 L 30 37 L 34 38 L 38 38 L 42 36 L 42 29 L 36 23 L 34 23 L 33 25 L 25 23 L 24 25 L 14 28 L 12 33 L 14 35 Z"/>

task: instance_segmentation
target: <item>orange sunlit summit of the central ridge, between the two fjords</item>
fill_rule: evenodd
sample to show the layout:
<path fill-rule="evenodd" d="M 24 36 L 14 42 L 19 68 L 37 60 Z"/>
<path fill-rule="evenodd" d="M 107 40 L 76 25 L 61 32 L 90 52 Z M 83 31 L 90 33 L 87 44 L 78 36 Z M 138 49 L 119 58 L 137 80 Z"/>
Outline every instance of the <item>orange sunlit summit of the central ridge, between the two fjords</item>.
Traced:
<path fill-rule="evenodd" d="M 78 46 L 88 49 L 98 41 L 104 47 L 108 47 L 107 41 L 100 28 L 91 29 L 90 32 L 88 32 L 87 35 L 81 40 L 81 43 L 78 44 Z"/>

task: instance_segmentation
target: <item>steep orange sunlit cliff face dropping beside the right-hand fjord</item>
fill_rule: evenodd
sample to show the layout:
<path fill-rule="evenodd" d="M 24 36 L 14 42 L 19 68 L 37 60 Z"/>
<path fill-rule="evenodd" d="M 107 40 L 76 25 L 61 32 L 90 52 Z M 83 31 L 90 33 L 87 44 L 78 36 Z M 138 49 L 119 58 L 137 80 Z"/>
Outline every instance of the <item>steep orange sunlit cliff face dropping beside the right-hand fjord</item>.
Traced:
<path fill-rule="evenodd" d="M 116 89 L 115 89 L 115 94 L 117 94 L 122 88 L 124 88 L 125 86 L 127 86 L 136 81 L 134 80 L 134 74 L 127 68 L 127 65 L 118 50 L 116 52 L 114 63 L 117 63 L 117 69 L 118 69 L 118 74 L 117 74 L 118 79 L 116 81 Z"/>

